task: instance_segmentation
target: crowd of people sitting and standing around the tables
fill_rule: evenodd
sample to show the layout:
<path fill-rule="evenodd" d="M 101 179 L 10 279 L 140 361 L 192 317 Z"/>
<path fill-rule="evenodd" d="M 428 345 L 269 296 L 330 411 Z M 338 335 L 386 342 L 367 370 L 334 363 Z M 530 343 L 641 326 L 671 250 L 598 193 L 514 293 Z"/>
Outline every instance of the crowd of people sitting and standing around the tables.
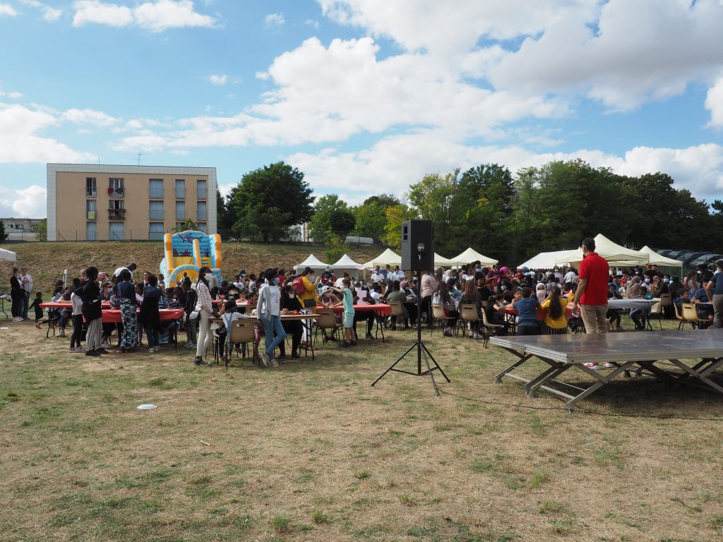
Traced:
<path fill-rule="evenodd" d="M 586 240 L 591 241 L 591 240 Z M 26 268 L 17 267 L 10 277 L 12 318 L 14 322 L 28 319 L 27 312 L 35 309 L 35 325 L 40 327 L 48 320 L 59 326 L 59 337 L 66 337 L 66 328 L 72 322 L 69 351 L 101 356 L 111 348 L 110 337 L 119 334 L 118 348 L 121 353 L 133 352 L 141 345 L 145 333 L 147 350 L 159 350 L 168 343 L 179 329 L 186 332 L 186 348 L 195 350 L 194 364 L 208 365 L 203 356 L 212 335 L 223 354 L 223 349 L 234 345 L 225 340 L 234 319 L 258 316 L 255 345 L 265 337 L 265 348 L 260 358 L 265 366 L 278 366 L 278 360 L 286 357 L 285 339 L 291 335 L 291 357 L 299 357 L 299 349 L 308 341 L 307 328 L 299 320 L 282 321 L 282 314 L 315 312 L 318 307 L 341 307 L 335 327 L 331 332 L 322 330 L 324 340 L 337 340 L 337 329 L 343 330 L 345 348 L 356 345 L 356 324 L 366 324 L 366 337 L 373 338 L 372 327 L 379 318 L 374 311 L 356 312 L 355 305 L 378 304 L 399 301 L 403 306 L 401 317 L 390 317 L 390 327 L 395 329 L 398 320 L 416 325 L 419 319 L 427 327 L 434 323 L 432 306 L 438 304 L 445 312 L 444 335 L 453 335 L 461 306 L 474 306 L 479 320 L 469 322 L 470 338 L 482 338 L 480 326 L 485 322 L 504 335 L 515 326 L 519 335 L 536 335 L 541 332 L 561 334 L 573 327 L 579 314 L 586 327 L 621 329 L 619 309 L 608 309 L 609 298 L 659 298 L 669 293 L 675 304 L 698 304 L 698 315 L 714 327 L 722 327 L 723 316 L 723 260 L 716 262 L 716 271 L 700 269 L 683 278 L 659 272 L 655 265 L 630 269 L 609 268 L 607 262 L 599 263 L 595 278 L 586 276 L 591 262 L 597 255 L 594 243 L 586 252 L 590 259 L 581 263 L 581 273 L 576 269 L 555 267 L 551 270 L 529 270 L 518 267 L 483 266 L 471 262 L 455 270 L 429 270 L 416 277 L 408 277 L 399 266 L 377 266 L 369 280 L 352 278 L 348 273 L 336 276 L 332 269 L 315 271 L 307 267 L 298 274 L 291 270 L 270 268 L 254 274 L 241 270 L 234 280 L 219 281 L 210 268 L 202 267 L 197 278 L 187 274 L 174 288 L 166 288 L 163 275 L 143 272 L 134 277 L 136 264 L 119 267 L 112 274 L 100 272 L 96 267 L 82 270 L 80 277 L 68 283 L 59 280 L 51 301 L 69 301 L 69 306 L 48 309 L 46 317 L 40 304 L 43 296 L 35 292 L 33 278 Z M 604 271 L 603 271 L 604 270 Z M 592 293 L 589 282 L 594 280 Z M 585 297 L 587 296 L 587 302 Z M 33 299 L 32 303 L 30 302 Z M 594 298 L 594 301 L 591 301 Z M 420 301 L 417 309 L 416 301 Z M 237 303 L 239 301 L 239 303 Z M 580 304 L 582 306 L 580 306 Z M 121 322 L 104 323 L 103 306 L 118 309 Z M 252 307 L 255 306 L 255 309 Z M 510 306 L 514 311 L 510 311 Z M 248 314 L 247 314 L 248 307 Z M 569 318 L 568 309 L 573 317 Z M 591 307 L 593 309 L 591 309 Z M 537 309 L 546 309 L 544 322 L 537 319 Z M 182 309 L 183 316 L 161 319 L 163 309 Z M 672 306 L 669 308 L 672 309 Z M 588 311 L 589 314 L 585 312 Z M 649 309 L 633 309 L 630 317 L 637 329 L 643 329 Z M 510 313 L 514 312 L 514 317 Z M 419 313 L 419 314 L 418 314 Z M 599 313 L 599 314 L 598 314 Z M 674 317 L 674 314 L 667 314 Z M 85 347 L 82 346 L 85 341 Z M 246 345 L 241 345 L 246 355 Z M 279 355 L 275 356 L 278 347 Z M 239 349 L 239 345 L 236 345 Z"/>

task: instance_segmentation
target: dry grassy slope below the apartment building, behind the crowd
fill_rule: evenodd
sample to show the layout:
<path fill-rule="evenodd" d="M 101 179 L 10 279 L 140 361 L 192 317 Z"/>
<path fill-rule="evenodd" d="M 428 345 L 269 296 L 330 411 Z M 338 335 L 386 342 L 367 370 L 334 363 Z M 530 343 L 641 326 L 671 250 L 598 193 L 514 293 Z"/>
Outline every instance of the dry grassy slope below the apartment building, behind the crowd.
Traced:
<path fill-rule="evenodd" d="M 113 272 L 116 267 L 136 262 L 140 270 L 158 272 L 158 265 L 163 258 L 163 246 L 160 242 L 25 243 L 13 245 L 12 250 L 17 253 L 20 264 L 27 266 L 33 275 L 36 289 L 43 293 L 51 291 L 53 283 L 62 278 L 66 268 L 69 276 L 74 277 L 79 276 L 80 270 L 89 265 Z M 248 273 L 256 273 L 267 267 L 288 269 L 303 262 L 309 253 L 323 261 L 324 251 L 325 248 L 320 245 L 224 243 L 223 276 L 227 279 L 234 278 L 241 269 Z M 363 263 L 381 252 L 382 249 L 379 248 L 352 247 L 348 254 L 355 261 Z"/>

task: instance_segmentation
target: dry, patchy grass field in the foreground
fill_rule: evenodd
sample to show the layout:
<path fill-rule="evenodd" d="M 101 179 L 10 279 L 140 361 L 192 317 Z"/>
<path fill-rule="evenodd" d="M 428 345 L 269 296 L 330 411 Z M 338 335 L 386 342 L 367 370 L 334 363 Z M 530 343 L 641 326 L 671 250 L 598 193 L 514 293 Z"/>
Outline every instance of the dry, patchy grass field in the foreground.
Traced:
<path fill-rule="evenodd" d="M 1 541 L 723 538 L 711 392 L 620 379 L 579 405 L 596 414 L 565 414 L 494 384 L 507 353 L 440 332 L 425 340 L 452 383 L 435 397 L 427 378 L 369 386 L 412 331 L 226 372 L 0 325 Z"/>

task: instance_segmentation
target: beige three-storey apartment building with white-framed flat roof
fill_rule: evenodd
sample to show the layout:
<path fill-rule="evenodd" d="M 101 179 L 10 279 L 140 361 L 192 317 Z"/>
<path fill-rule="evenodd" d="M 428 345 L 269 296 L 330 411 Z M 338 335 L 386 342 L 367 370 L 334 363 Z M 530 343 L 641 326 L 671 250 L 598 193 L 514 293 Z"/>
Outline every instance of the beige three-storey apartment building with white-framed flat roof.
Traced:
<path fill-rule="evenodd" d="M 48 163 L 48 241 L 161 240 L 190 218 L 216 233 L 215 168 Z"/>

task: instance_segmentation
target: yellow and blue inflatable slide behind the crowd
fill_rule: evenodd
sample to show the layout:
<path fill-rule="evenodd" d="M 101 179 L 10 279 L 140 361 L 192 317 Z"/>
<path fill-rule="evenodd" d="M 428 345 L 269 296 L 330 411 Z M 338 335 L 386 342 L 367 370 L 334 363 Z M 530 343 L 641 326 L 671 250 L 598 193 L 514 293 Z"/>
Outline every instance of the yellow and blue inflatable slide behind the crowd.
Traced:
<path fill-rule="evenodd" d="M 221 284 L 221 236 L 209 236 L 202 231 L 181 231 L 163 236 L 163 259 L 161 272 L 166 277 L 166 286 L 180 285 L 184 277 L 193 282 L 198 270 L 208 265 Z"/>

